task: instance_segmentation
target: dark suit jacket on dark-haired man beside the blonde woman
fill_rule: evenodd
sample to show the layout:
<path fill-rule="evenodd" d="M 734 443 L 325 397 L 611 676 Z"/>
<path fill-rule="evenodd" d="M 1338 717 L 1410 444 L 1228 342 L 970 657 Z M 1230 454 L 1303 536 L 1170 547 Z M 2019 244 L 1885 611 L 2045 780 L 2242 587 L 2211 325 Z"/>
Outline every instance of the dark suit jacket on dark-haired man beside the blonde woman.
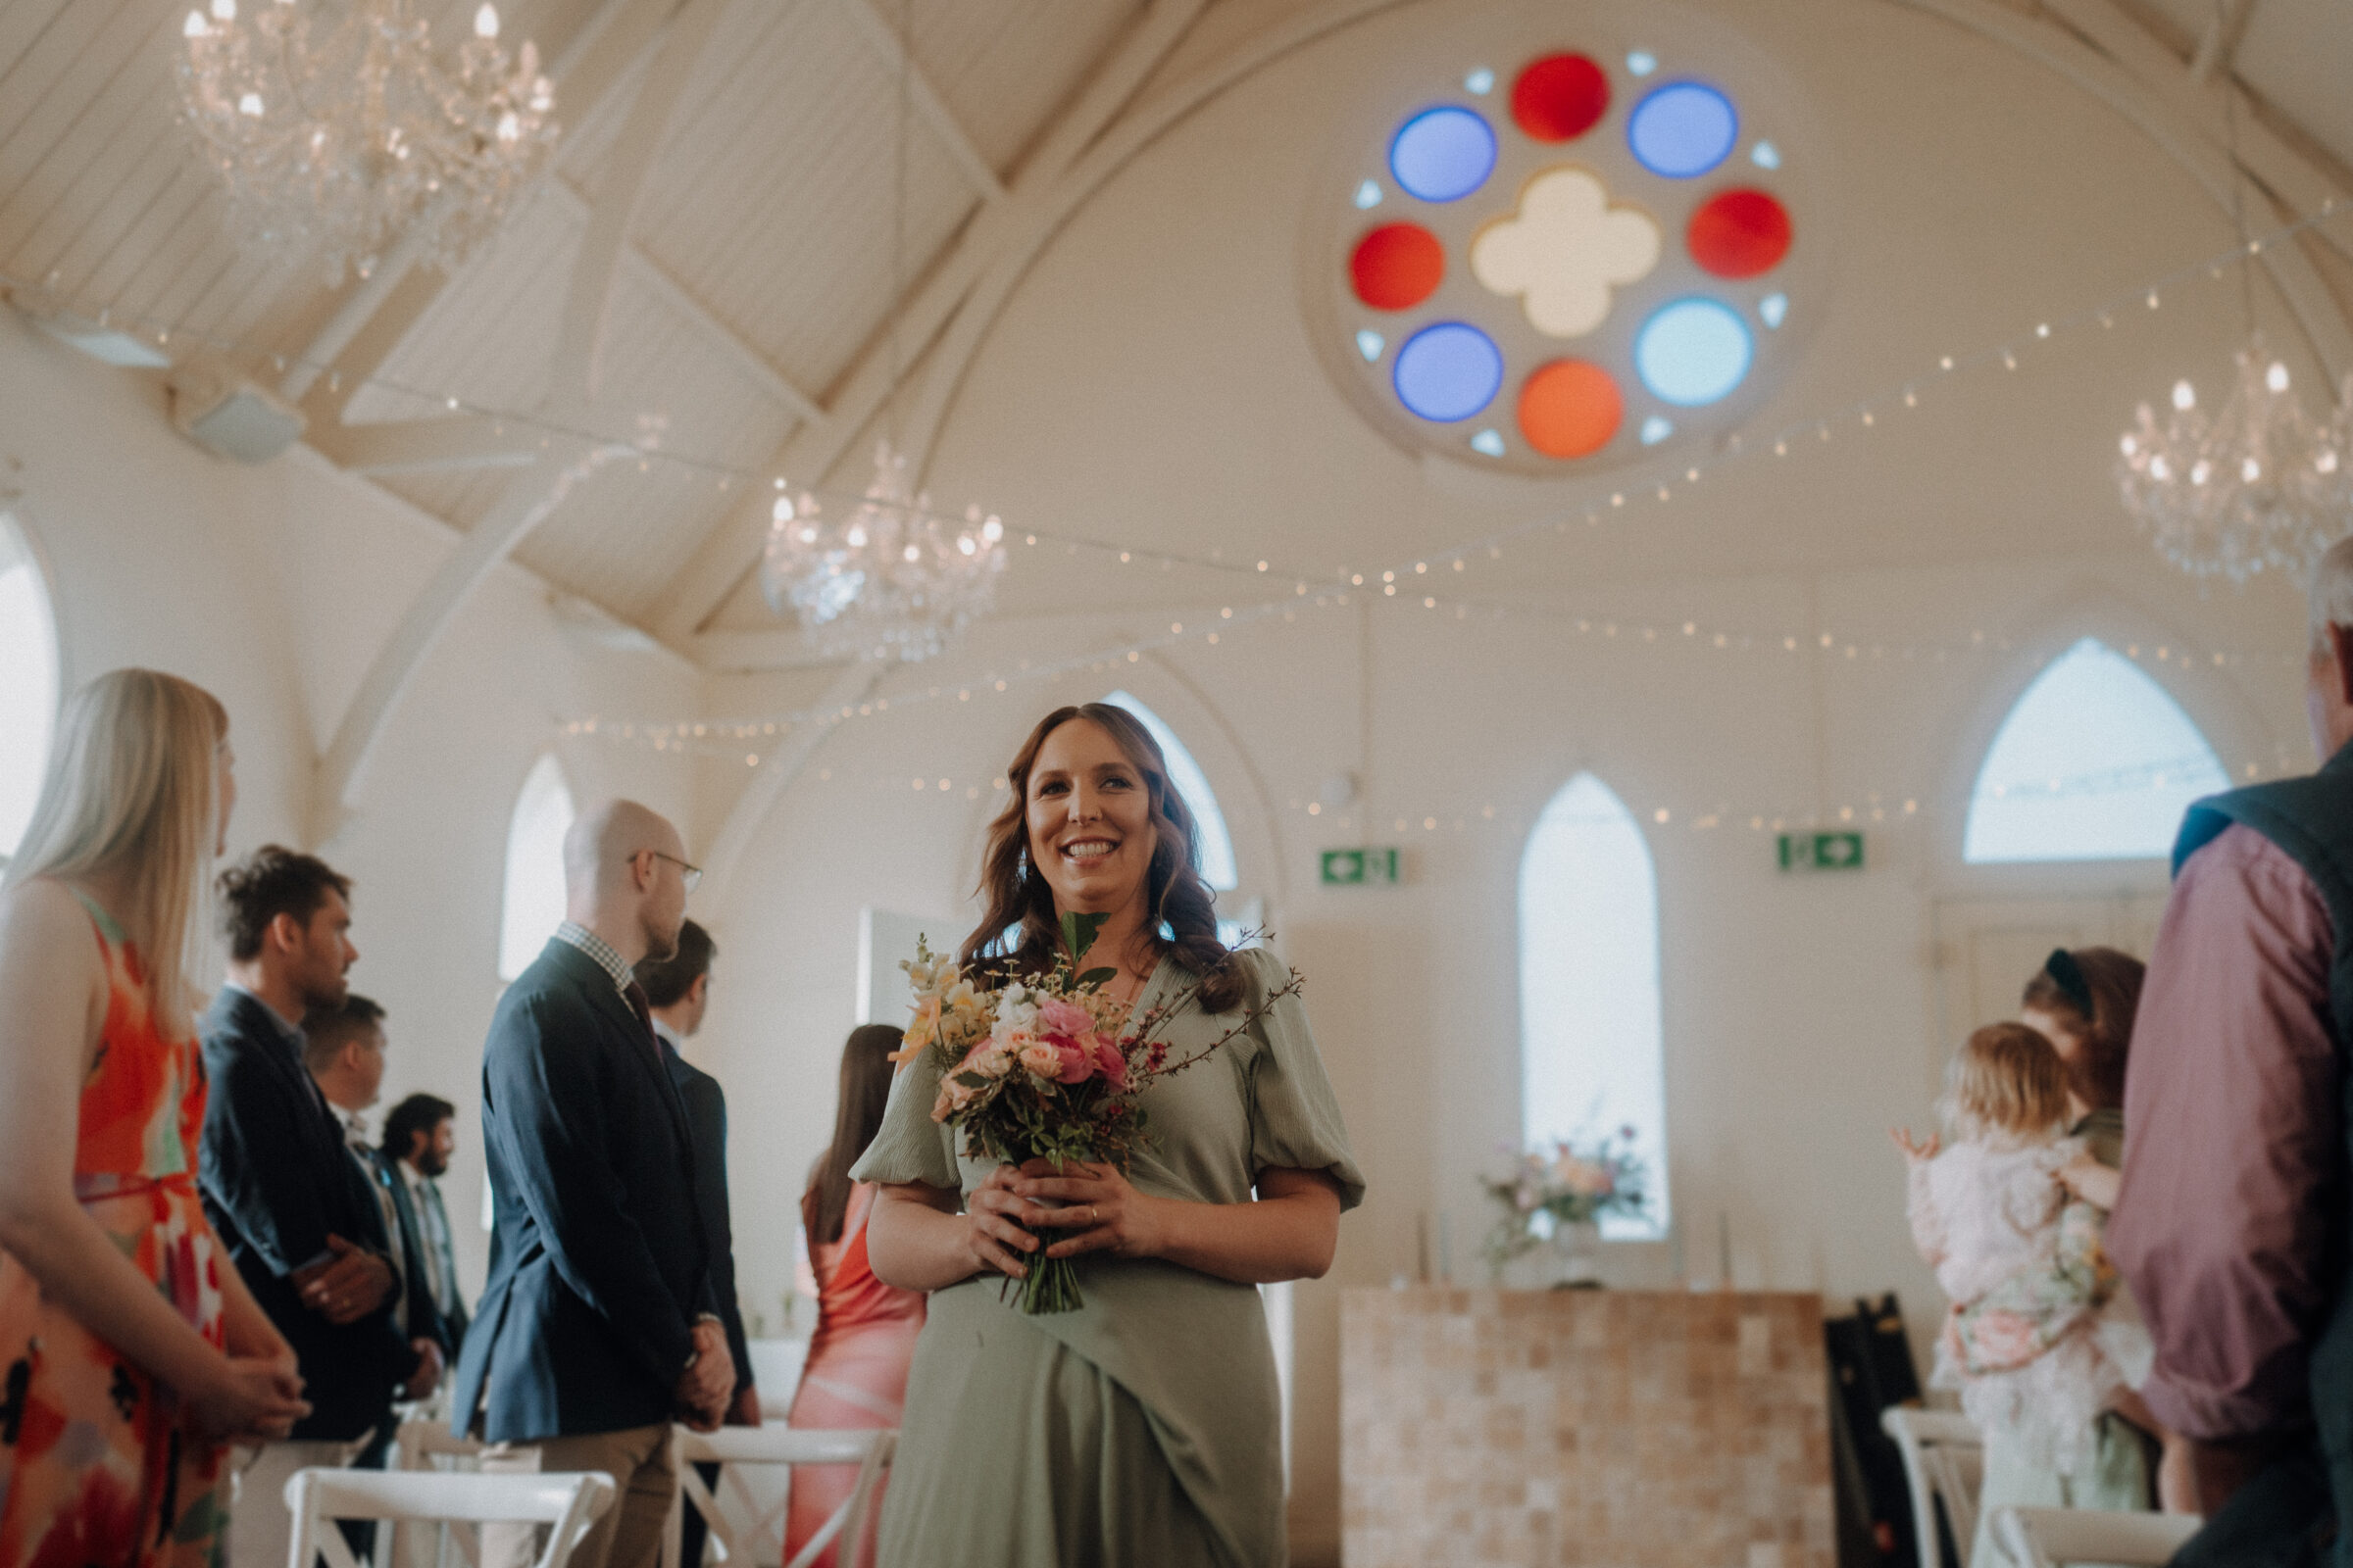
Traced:
<path fill-rule="evenodd" d="M 301 1361 L 311 1415 L 294 1436 L 355 1439 L 386 1420 L 416 1354 L 391 1300 L 336 1326 L 301 1305 L 292 1274 L 327 1253 L 329 1234 L 391 1255 L 384 1211 L 264 1001 L 224 987 L 200 1032 L 212 1081 L 198 1159 L 205 1215 Z"/>

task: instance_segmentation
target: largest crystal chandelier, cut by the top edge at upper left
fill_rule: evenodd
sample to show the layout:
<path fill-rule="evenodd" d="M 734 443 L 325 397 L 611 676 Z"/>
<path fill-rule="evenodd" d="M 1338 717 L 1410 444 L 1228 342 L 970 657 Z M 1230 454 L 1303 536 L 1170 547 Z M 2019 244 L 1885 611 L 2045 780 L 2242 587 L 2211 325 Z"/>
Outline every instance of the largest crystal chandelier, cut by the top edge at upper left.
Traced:
<path fill-rule="evenodd" d="M 181 118 L 238 233 L 374 273 L 402 235 L 452 268 L 555 143 L 555 89 L 482 5 L 447 66 L 412 0 L 209 0 L 181 24 Z"/>

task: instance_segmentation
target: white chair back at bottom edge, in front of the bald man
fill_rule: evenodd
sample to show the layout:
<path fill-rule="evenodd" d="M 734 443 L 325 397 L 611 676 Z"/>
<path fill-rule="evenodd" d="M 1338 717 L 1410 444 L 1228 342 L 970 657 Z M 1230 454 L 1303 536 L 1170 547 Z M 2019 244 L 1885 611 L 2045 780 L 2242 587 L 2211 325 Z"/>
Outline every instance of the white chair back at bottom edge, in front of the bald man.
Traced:
<path fill-rule="evenodd" d="M 294 1544 L 287 1568 L 311 1568 L 320 1556 L 327 1568 L 358 1568 L 336 1521 L 452 1521 L 452 1523 L 544 1523 L 548 1544 L 534 1568 L 562 1568 L 605 1509 L 612 1507 L 612 1476 L 454 1476 L 405 1469 L 296 1469 L 287 1481 L 287 1509 L 294 1512 Z"/>

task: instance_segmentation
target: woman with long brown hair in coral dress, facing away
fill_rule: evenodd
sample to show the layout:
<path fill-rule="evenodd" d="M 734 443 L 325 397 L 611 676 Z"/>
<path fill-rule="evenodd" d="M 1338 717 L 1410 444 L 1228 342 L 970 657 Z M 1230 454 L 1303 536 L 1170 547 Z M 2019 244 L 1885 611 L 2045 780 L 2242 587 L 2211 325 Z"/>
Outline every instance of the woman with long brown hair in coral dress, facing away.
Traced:
<path fill-rule="evenodd" d="M 791 1425 L 824 1432 L 896 1427 L 906 1406 L 906 1368 L 922 1333 L 922 1291 L 899 1291 L 875 1279 L 866 1265 L 866 1215 L 873 1213 L 871 1182 L 852 1182 L 849 1166 L 882 1126 L 889 1103 L 899 1030 L 871 1023 L 849 1032 L 842 1046 L 842 1098 L 833 1114 L 833 1143 L 809 1173 L 800 1220 L 809 1234 L 809 1267 L 816 1274 L 816 1333 L 809 1361 L 793 1394 Z M 793 1561 L 856 1486 L 854 1465 L 809 1465 L 793 1472 L 793 1507 L 784 1526 L 784 1561 Z M 882 1490 L 875 1490 L 880 1512 Z M 845 1530 L 847 1535 L 847 1530 Z M 866 1519 L 866 1552 L 854 1568 L 873 1568 L 875 1519 Z M 840 1568 L 840 1544 L 816 1556 L 816 1568 Z"/>

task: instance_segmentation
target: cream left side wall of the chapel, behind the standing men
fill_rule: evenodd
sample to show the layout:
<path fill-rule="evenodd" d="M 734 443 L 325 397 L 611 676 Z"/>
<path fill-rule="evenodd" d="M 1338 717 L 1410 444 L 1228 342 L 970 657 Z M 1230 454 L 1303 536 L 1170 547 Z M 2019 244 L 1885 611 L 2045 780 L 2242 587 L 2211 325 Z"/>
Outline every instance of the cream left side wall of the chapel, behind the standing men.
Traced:
<path fill-rule="evenodd" d="M 64 682 L 146 663 L 212 689 L 238 752 L 231 853 L 301 844 L 313 757 L 452 534 L 304 449 L 214 458 L 172 430 L 153 381 L 5 310 L 0 480 L 49 567 Z M 487 1258 L 480 1056 L 515 790 L 560 719 L 696 701 L 685 663 L 567 635 L 546 590 L 501 569 L 421 668 L 353 816 L 311 846 L 355 882 L 351 983 L 391 1011 L 384 1107 L 412 1091 L 459 1107 L 445 1192 L 468 1291 Z M 624 792 L 687 818 L 680 762 L 576 743 L 565 766 L 581 802 Z"/>

